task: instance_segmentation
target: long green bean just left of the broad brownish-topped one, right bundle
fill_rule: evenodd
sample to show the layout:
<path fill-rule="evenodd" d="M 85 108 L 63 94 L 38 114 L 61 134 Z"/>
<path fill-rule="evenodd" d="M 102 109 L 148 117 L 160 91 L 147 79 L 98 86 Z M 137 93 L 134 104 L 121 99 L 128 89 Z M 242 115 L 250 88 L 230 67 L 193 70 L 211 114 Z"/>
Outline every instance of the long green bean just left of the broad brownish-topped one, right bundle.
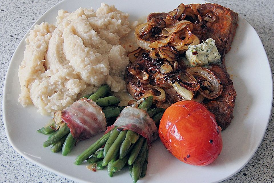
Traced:
<path fill-rule="evenodd" d="M 103 159 L 102 166 L 106 166 L 110 160 L 113 159 L 114 156 L 116 156 L 119 152 L 120 144 L 124 141 L 126 138 L 126 132 L 127 130 L 123 130 L 120 132 L 116 140 L 113 142 L 113 144 L 110 146 L 108 152 L 106 153 L 106 156 Z"/>

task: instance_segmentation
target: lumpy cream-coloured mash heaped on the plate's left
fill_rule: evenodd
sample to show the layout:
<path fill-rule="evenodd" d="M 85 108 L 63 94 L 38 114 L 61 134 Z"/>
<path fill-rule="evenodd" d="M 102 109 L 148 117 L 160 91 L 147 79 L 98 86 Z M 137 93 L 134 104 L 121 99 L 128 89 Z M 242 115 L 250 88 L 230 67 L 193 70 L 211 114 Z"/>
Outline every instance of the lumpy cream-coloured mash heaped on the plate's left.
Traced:
<path fill-rule="evenodd" d="M 127 18 L 114 5 L 102 3 L 97 11 L 59 10 L 55 25 L 35 25 L 19 66 L 19 103 L 23 107 L 33 103 L 47 115 L 104 83 L 113 92 L 124 90 L 129 59 L 120 38 L 130 32 Z"/>

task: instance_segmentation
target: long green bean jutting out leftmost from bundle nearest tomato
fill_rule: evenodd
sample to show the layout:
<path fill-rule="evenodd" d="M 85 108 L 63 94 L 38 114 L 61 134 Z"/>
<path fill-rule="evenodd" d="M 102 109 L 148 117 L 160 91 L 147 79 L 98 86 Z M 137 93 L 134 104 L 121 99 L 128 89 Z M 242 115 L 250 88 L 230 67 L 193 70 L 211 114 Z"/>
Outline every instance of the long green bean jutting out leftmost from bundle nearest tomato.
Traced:
<path fill-rule="evenodd" d="M 87 148 L 82 154 L 78 155 L 75 159 L 74 164 L 80 165 L 84 160 L 88 159 L 94 152 L 101 148 L 110 136 L 110 132 L 104 134 L 100 139 L 94 142 L 89 148 Z"/>

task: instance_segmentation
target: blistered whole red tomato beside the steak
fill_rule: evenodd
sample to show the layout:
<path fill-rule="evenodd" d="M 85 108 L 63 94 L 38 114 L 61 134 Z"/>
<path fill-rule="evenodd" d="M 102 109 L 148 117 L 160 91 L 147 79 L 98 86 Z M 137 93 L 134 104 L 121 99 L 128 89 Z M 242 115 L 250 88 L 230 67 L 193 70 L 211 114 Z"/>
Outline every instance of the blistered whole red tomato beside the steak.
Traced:
<path fill-rule="evenodd" d="M 179 160 L 205 166 L 221 153 L 221 128 L 215 116 L 202 104 L 183 100 L 166 109 L 159 126 L 159 137 Z"/>

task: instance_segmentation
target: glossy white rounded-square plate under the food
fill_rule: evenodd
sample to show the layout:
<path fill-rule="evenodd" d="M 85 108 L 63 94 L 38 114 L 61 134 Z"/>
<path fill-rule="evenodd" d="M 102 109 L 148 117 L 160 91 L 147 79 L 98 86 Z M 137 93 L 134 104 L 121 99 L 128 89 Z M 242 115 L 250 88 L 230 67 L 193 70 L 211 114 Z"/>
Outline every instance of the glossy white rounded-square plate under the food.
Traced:
<path fill-rule="evenodd" d="M 143 18 L 150 12 L 170 11 L 180 3 L 205 3 L 204 1 L 122 1 L 105 0 L 130 14 L 130 20 Z M 35 24 L 43 21 L 55 22 L 57 11 L 65 9 L 74 11 L 78 7 L 100 7 L 99 1 L 65 0 L 58 3 Z M 33 28 L 33 27 L 31 27 Z M 128 170 L 122 170 L 110 178 L 106 170 L 91 172 L 85 164 L 76 166 L 74 159 L 101 134 L 78 143 L 77 148 L 62 156 L 43 148 L 46 136 L 36 132 L 49 117 L 41 116 L 33 106 L 23 108 L 18 104 L 20 84 L 18 67 L 23 59 L 26 35 L 19 43 L 9 64 L 5 78 L 3 94 L 4 125 L 9 142 L 13 148 L 26 159 L 52 172 L 78 182 L 132 182 Z M 234 108 L 234 119 L 231 125 L 222 132 L 223 150 L 215 162 L 209 166 L 191 166 L 174 158 L 158 140 L 150 149 L 147 175 L 138 182 L 218 182 L 237 173 L 251 159 L 261 140 L 270 117 L 272 106 L 272 75 L 269 62 L 259 36 L 242 18 L 239 27 L 226 55 L 227 70 L 231 75 L 237 92 Z"/>

